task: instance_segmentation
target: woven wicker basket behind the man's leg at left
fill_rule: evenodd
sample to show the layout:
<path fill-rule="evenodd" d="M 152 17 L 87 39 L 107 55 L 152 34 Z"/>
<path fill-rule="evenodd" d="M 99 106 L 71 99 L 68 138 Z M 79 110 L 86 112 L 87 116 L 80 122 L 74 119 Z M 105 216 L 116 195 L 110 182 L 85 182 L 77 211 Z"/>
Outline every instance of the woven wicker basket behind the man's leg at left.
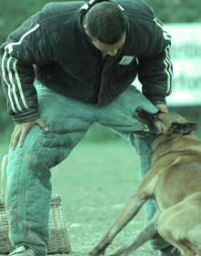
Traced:
<path fill-rule="evenodd" d="M 0 254 L 8 254 L 15 248 L 8 239 L 8 220 L 5 212 L 5 161 L 3 159 L 1 169 L 1 191 L 0 191 Z M 65 227 L 65 218 L 62 207 L 61 197 L 55 195 L 51 200 L 50 218 L 49 218 L 49 245 L 48 254 L 69 253 L 71 246 L 69 243 L 67 230 Z"/>

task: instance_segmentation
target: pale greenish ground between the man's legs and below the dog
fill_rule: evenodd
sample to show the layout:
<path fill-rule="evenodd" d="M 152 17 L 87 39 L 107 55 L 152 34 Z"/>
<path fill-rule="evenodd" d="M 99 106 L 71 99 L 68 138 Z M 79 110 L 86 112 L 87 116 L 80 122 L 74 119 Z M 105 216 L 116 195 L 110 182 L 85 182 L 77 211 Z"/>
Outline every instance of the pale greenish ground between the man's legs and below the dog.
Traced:
<path fill-rule="evenodd" d="M 72 256 L 84 256 L 116 218 L 139 180 L 136 151 L 126 141 L 80 143 L 68 159 L 52 171 L 54 194 L 62 196 Z M 141 210 L 113 242 L 106 254 L 129 243 L 144 223 Z M 154 256 L 147 244 L 132 253 Z M 131 256 L 132 256 L 131 255 Z"/>

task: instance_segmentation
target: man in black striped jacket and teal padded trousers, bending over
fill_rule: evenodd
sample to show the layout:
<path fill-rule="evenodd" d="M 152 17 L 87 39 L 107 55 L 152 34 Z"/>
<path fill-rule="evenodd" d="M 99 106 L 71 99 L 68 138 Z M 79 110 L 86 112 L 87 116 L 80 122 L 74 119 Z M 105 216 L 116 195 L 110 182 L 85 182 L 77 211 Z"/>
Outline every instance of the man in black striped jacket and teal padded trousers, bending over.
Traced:
<path fill-rule="evenodd" d="M 150 130 L 137 120 L 136 109 L 168 112 L 169 47 L 170 36 L 140 0 L 45 5 L 8 37 L 1 52 L 15 121 L 5 200 L 16 247 L 11 255 L 46 255 L 50 169 L 93 123 L 129 139 L 146 173 Z M 137 74 L 143 94 L 131 87 Z M 154 212 L 147 205 L 148 219 Z M 161 255 L 176 255 L 159 237 L 153 246 Z"/>

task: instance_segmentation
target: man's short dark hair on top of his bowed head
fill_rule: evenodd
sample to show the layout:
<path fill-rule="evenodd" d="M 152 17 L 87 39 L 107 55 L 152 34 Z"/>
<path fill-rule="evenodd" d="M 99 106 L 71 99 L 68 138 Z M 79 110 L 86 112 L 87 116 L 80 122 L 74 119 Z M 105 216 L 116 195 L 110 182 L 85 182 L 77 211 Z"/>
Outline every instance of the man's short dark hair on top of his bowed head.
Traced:
<path fill-rule="evenodd" d="M 126 32 L 124 11 L 116 3 L 97 3 L 86 12 L 85 26 L 90 36 L 104 44 L 113 45 Z"/>

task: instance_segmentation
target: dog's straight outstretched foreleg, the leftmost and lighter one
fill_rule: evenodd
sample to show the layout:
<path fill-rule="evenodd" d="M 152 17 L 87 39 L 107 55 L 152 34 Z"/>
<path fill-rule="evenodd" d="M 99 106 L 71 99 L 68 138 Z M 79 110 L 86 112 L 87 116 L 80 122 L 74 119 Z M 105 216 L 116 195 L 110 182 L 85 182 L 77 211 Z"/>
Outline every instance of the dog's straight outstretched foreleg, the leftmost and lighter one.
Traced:
<path fill-rule="evenodd" d="M 125 205 L 118 215 L 115 223 L 103 236 L 102 240 L 95 248 L 88 253 L 89 256 L 104 255 L 106 247 L 113 241 L 116 234 L 122 230 L 126 224 L 132 220 L 141 206 L 146 202 L 147 194 L 144 191 L 138 191 Z"/>

